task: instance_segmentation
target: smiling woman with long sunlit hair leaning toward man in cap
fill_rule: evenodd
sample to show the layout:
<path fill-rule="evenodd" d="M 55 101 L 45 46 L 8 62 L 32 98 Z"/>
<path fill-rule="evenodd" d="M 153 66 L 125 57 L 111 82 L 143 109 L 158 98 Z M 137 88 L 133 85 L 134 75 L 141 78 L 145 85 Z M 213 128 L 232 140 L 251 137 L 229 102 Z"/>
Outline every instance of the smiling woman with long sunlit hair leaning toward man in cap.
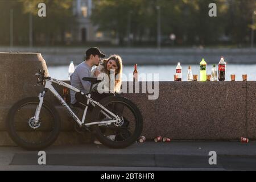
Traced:
<path fill-rule="evenodd" d="M 91 76 L 98 77 L 104 75 L 104 89 L 109 90 L 109 94 L 119 93 L 122 85 L 122 59 L 119 55 L 112 55 L 108 59 L 103 60 L 103 63 L 92 70 Z M 112 76 L 111 74 L 114 73 Z M 101 75 L 100 75 L 101 74 Z M 112 80 L 114 78 L 114 80 Z M 111 84 L 113 83 L 113 84 Z M 98 89 L 97 85 L 93 86 L 94 90 Z M 108 93 L 107 93 L 108 94 Z M 95 95 L 95 92 L 94 92 Z M 98 94 L 97 94 L 98 95 Z M 106 93 L 100 96 L 106 97 Z"/>

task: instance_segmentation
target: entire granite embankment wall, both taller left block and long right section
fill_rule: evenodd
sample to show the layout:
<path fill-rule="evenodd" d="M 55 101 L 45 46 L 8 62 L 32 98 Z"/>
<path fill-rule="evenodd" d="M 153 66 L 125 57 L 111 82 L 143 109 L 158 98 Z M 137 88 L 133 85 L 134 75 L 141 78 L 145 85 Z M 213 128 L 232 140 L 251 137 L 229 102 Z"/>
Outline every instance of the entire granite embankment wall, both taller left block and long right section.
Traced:
<path fill-rule="evenodd" d="M 7 111 L 14 102 L 24 97 L 38 96 L 42 86 L 34 86 L 34 73 L 38 69 L 47 70 L 47 67 L 38 53 L 0 53 L 0 62 L 0 145 L 13 145 L 5 130 Z M 133 90 L 133 93 L 123 93 L 123 96 L 134 101 L 141 110 L 144 120 L 142 135 L 147 139 L 156 135 L 174 140 L 256 138 L 255 81 L 159 82 L 159 85 L 153 84 L 155 92 L 159 86 L 156 100 L 148 99 L 152 96 L 148 89 L 150 84 L 133 84 L 123 82 L 129 90 Z M 142 85 L 146 85 L 148 91 L 142 93 Z M 63 88 L 59 85 L 55 87 L 62 94 Z M 76 133 L 72 118 L 51 93 L 46 94 L 46 100 L 55 105 L 61 117 L 61 133 L 55 144 L 90 141 L 89 133 Z"/>

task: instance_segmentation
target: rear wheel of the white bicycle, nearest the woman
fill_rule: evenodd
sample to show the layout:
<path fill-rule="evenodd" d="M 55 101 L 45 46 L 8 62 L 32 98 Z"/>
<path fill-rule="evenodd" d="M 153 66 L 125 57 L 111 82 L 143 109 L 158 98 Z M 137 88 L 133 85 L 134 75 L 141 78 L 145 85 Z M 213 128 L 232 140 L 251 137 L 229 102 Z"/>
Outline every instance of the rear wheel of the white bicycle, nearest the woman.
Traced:
<path fill-rule="evenodd" d="M 119 96 L 106 97 L 100 101 L 100 104 L 118 115 L 121 122 L 92 126 L 97 139 L 110 148 L 125 148 L 133 144 L 141 135 L 143 128 L 143 119 L 138 107 L 129 99 Z M 94 107 L 93 121 L 109 120 L 101 110 L 99 106 Z"/>

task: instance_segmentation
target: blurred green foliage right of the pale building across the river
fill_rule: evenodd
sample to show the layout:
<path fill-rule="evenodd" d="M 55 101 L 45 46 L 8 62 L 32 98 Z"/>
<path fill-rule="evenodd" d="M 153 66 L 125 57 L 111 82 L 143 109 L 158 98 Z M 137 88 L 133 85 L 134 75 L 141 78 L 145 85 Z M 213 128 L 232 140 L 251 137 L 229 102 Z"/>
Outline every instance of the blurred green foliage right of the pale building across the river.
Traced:
<path fill-rule="evenodd" d="M 131 13 L 131 33 L 135 41 L 142 37 L 156 41 L 157 10 L 160 6 L 163 38 L 172 33 L 176 43 L 217 44 L 220 36 L 229 36 L 232 43 L 248 42 L 251 13 L 255 0 L 95 0 L 92 21 L 100 30 L 112 32 L 123 39 L 128 32 Z M 216 3 L 217 17 L 209 17 L 209 3 Z M 256 26 L 256 24 L 255 24 Z M 122 41 L 121 41 L 122 42 Z"/>

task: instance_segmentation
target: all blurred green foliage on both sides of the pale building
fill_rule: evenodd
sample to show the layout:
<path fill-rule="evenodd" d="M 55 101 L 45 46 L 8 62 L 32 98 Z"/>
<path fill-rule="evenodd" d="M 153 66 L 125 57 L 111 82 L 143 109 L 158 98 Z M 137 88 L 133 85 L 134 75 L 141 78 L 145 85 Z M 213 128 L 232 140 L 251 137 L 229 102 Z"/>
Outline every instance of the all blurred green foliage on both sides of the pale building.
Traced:
<path fill-rule="evenodd" d="M 38 3 L 47 6 L 47 18 L 37 15 Z M 209 17 L 209 3 L 216 3 L 217 17 Z M 14 13 L 14 44 L 28 44 L 28 17 L 32 14 L 34 44 L 64 43 L 64 32 L 76 24 L 72 14 L 73 0 L 1 0 L 0 44 L 10 41 L 10 10 Z M 256 0 L 93 0 L 91 20 L 100 31 L 125 44 L 129 32 L 133 44 L 155 44 L 158 10 L 160 7 L 163 43 L 170 34 L 176 35 L 175 44 L 222 44 L 225 35 L 232 44 L 249 44 Z M 130 19 L 130 21 L 129 21 Z M 60 41 L 61 40 L 61 41 Z"/>

